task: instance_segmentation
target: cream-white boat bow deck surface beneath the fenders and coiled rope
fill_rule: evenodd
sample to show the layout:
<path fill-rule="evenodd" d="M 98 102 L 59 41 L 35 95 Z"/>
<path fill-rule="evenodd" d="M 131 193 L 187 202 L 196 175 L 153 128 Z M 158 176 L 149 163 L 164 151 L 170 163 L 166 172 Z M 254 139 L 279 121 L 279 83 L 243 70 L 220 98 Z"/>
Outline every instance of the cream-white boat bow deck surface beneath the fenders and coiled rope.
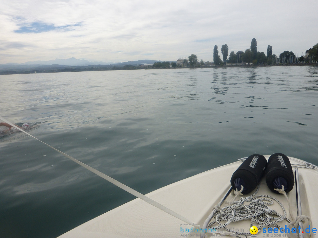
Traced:
<path fill-rule="evenodd" d="M 265 156 L 268 159 L 269 156 Z M 293 164 L 306 164 L 307 162 L 288 157 Z M 167 208 L 192 221 L 192 225 L 202 227 L 205 219 L 212 209 L 222 199 L 230 188 L 230 179 L 233 172 L 241 162 L 234 162 L 209 171 L 172 183 L 157 189 L 146 196 L 161 203 Z M 294 169 L 293 169 L 294 170 Z M 318 170 L 299 169 L 300 194 L 302 214 L 312 219 L 312 226 L 318 228 Z M 283 195 L 271 192 L 266 185 L 265 178 L 261 181 L 258 194 L 271 195 L 282 202 L 288 210 L 287 200 Z M 294 217 L 297 216 L 295 186 L 288 194 Z M 229 195 L 225 204 L 232 201 L 233 195 Z M 274 209 L 282 213 L 282 209 L 273 205 Z M 289 214 L 287 212 L 287 217 Z M 285 223 L 279 223 L 285 226 Z M 304 223 L 304 229 L 308 223 Z M 236 229 L 249 230 L 249 222 L 241 222 Z M 186 229 L 194 228 L 193 232 Z M 184 230 L 182 232 L 182 230 Z M 125 203 L 105 214 L 102 214 L 86 223 L 59 236 L 59 238 L 86 238 L 86 237 L 180 237 L 182 235 L 199 236 L 195 227 L 153 207 L 147 202 L 137 198 Z M 210 234 L 213 235 L 213 234 Z M 306 237 L 306 234 L 304 234 Z M 185 237 L 185 236 L 184 236 Z"/>

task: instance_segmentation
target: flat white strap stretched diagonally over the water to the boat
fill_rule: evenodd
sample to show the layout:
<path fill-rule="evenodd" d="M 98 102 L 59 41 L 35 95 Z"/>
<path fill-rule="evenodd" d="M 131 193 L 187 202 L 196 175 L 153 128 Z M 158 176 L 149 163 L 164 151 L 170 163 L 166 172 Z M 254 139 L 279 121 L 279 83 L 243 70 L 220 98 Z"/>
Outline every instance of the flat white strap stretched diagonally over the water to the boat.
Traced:
<path fill-rule="evenodd" d="M 168 213 L 168 214 L 170 214 L 170 215 L 172 215 L 172 216 L 174 216 L 174 217 L 180 219 L 181 221 L 184 221 L 184 222 L 188 223 L 188 224 L 191 225 L 191 226 L 200 228 L 199 225 L 196 225 L 195 223 L 189 221 L 189 220 L 186 219 L 185 217 L 183 217 L 183 216 L 179 215 L 178 213 L 176 213 L 176 212 L 170 210 L 169 208 L 163 206 L 162 204 L 160 204 L 160 203 L 158 203 L 158 202 L 156 202 L 156 201 L 150 199 L 149 197 L 147 197 L 147 196 L 141 194 L 140 192 L 137 192 L 136 190 L 134 190 L 134 189 L 128 187 L 127 185 L 125 185 L 125 184 L 123 184 L 123 183 L 121 183 L 121 182 L 119 182 L 119 181 L 113 179 L 112 177 L 109 177 L 109 176 L 106 175 L 106 174 L 103 174 L 102 172 L 100 172 L 100 171 L 98 171 L 98 170 L 96 170 L 96 169 L 93 169 L 92 167 L 90 167 L 90 166 L 88 166 L 88 165 L 86 165 L 86 164 L 80 162 L 79 160 L 74 159 L 72 156 L 69 156 L 69 155 L 63 153 L 62 151 L 60 151 L 60 150 L 58 150 L 58 149 L 55 149 L 54 147 L 52 147 L 52 146 L 46 144 L 45 142 L 39 140 L 38 138 L 36 138 L 36 137 L 30 135 L 30 134 L 27 133 L 26 131 L 20 129 L 19 127 L 17 127 L 16 125 L 12 124 L 11 122 L 5 120 L 5 119 L 4 119 L 3 117 L 1 117 L 1 116 L 0 116 L 0 120 L 2 120 L 3 122 L 6 122 L 6 123 L 8 123 L 8 124 L 10 124 L 10 125 L 13 126 L 14 128 L 16 128 L 16 129 L 22 131 L 23 133 L 27 134 L 28 136 L 33 137 L 34 139 L 38 140 L 39 142 L 42 142 L 43 144 L 47 145 L 48 147 L 50 147 L 50 148 L 56 150 L 56 151 L 59 152 L 60 154 L 66 156 L 66 157 L 69 158 L 70 160 L 73 160 L 75 163 L 78 163 L 80 166 L 84 167 L 85 169 L 88 169 L 89 171 L 91 171 L 91 172 L 93 172 L 94 174 L 96 174 L 96 175 L 102 177 L 103 179 L 106 179 L 108 182 L 113 183 L 113 184 L 116 185 L 117 187 L 119 187 L 119 188 L 125 190 L 126 192 L 128 192 L 128 193 L 130 193 L 130 194 L 132 194 L 132 195 L 134 195 L 134 196 L 136 196 L 136 197 L 142 199 L 142 200 L 145 201 L 145 202 L 148 202 L 149 204 L 155 206 L 156 208 L 159 208 L 160 210 L 162 210 L 162 211 L 164 211 L 164 212 L 166 212 L 166 213 Z"/>

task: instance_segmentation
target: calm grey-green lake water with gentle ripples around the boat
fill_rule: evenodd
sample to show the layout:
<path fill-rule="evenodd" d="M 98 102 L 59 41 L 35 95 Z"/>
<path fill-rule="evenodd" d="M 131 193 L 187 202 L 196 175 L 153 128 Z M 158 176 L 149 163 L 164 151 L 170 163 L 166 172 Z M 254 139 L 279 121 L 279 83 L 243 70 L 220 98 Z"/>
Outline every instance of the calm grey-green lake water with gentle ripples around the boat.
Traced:
<path fill-rule="evenodd" d="M 0 81 L 0 116 L 143 194 L 253 153 L 318 164 L 317 66 Z M 0 137 L 0 237 L 56 237 L 132 199 L 22 132 Z"/>

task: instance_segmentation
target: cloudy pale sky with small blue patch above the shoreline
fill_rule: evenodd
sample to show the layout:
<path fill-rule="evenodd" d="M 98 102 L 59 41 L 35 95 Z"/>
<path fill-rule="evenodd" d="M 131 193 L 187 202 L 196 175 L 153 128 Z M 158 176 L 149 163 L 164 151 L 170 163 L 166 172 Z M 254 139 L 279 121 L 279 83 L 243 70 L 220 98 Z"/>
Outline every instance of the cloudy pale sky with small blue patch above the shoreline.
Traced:
<path fill-rule="evenodd" d="M 318 43 L 317 0 L 1 0 L 0 64 L 87 59 L 176 61 L 213 48 L 297 56 Z"/>

